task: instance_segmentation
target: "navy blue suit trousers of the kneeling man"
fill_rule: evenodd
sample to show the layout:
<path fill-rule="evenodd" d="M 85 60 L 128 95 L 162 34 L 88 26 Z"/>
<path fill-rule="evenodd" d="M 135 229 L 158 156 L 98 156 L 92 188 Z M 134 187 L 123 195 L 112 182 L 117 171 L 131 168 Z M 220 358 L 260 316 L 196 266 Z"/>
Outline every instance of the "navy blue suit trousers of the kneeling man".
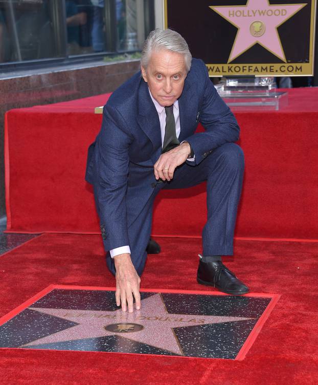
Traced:
<path fill-rule="evenodd" d="M 153 202 L 162 188 L 187 188 L 207 181 L 208 218 L 202 230 L 202 250 L 198 252 L 203 255 L 232 255 L 243 173 L 242 149 L 235 143 L 225 143 L 198 165 L 185 163 L 177 167 L 172 181 L 157 183 L 153 194 L 144 202 L 138 217 L 130 220 L 128 229 L 131 260 L 138 274 L 142 274 L 147 259 L 146 247 L 151 233 Z M 126 198 L 129 215 L 129 197 Z M 132 208 L 131 210 L 133 211 Z M 192 218 L 189 218 L 189 221 L 191 220 Z M 109 252 L 106 257 L 109 270 L 115 274 L 115 265 Z"/>

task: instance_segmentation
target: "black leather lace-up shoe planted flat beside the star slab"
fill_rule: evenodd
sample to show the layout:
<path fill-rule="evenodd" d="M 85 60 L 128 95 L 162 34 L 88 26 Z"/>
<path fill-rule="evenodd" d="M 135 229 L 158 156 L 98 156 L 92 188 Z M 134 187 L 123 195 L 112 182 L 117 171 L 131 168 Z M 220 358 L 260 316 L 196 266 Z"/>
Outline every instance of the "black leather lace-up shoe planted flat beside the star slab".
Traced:
<path fill-rule="evenodd" d="M 214 286 L 224 293 L 234 295 L 248 293 L 248 287 L 238 280 L 221 261 L 200 261 L 196 280 L 201 285 Z"/>

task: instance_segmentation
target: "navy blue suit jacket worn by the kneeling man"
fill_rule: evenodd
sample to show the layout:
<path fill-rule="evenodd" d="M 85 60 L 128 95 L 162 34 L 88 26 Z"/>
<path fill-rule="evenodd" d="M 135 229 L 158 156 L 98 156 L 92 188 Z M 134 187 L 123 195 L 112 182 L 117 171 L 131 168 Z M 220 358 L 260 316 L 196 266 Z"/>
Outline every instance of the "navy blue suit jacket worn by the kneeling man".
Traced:
<path fill-rule="evenodd" d="M 238 139 L 237 121 L 201 60 L 192 59 L 178 102 L 178 139 L 187 140 L 195 154 L 189 164 L 199 164 L 216 147 Z M 205 132 L 194 134 L 198 122 Z M 130 244 L 128 227 L 153 193 L 153 165 L 161 147 L 158 114 L 139 72 L 110 96 L 101 131 L 88 150 L 86 180 L 94 185 L 106 250 Z"/>

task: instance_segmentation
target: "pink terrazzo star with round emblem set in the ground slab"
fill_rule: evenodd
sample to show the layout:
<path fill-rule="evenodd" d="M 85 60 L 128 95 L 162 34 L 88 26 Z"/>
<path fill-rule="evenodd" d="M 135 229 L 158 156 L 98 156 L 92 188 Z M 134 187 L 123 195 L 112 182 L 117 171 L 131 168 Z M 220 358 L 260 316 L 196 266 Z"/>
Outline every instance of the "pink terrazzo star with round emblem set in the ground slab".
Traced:
<path fill-rule="evenodd" d="M 251 318 L 214 316 L 198 314 L 170 314 L 167 312 L 160 293 L 142 300 L 141 310 L 133 313 L 115 311 L 86 311 L 70 309 L 34 308 L 40 313 L 50 314 L 62 319 L 76 322 L 78 325 L 60 332 L 39 338 L 31 343 L 20 346 L 32 347 L 40 344 L 74 341 L 83 338 L 98 338 L 117 335 L 138 343 L 164 349 L 178 355 L 184 355 L 173 328 L 220 324 Z M 134 326 L 137 326 L 133 331 Z M 124 334 L 124 337 L 122 337 Z"/>

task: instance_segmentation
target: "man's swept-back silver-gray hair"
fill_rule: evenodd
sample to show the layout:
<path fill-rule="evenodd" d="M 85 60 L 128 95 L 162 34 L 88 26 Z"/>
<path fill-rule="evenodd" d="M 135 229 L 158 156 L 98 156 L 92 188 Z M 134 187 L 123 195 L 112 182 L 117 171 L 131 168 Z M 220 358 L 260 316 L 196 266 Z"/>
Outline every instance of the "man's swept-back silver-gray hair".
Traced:
<path fill-rule="evenodd" d="M 151 31 L 144 42 L 141 65 L 147 69 L 152 51 L 160 50 L 168 50 L 184 55 L 186 71 L 187 73 L 190 71 L 192 55 L 187 41 L 178 32 L 171 29 L 161 30 L 159 28 Z"/>

